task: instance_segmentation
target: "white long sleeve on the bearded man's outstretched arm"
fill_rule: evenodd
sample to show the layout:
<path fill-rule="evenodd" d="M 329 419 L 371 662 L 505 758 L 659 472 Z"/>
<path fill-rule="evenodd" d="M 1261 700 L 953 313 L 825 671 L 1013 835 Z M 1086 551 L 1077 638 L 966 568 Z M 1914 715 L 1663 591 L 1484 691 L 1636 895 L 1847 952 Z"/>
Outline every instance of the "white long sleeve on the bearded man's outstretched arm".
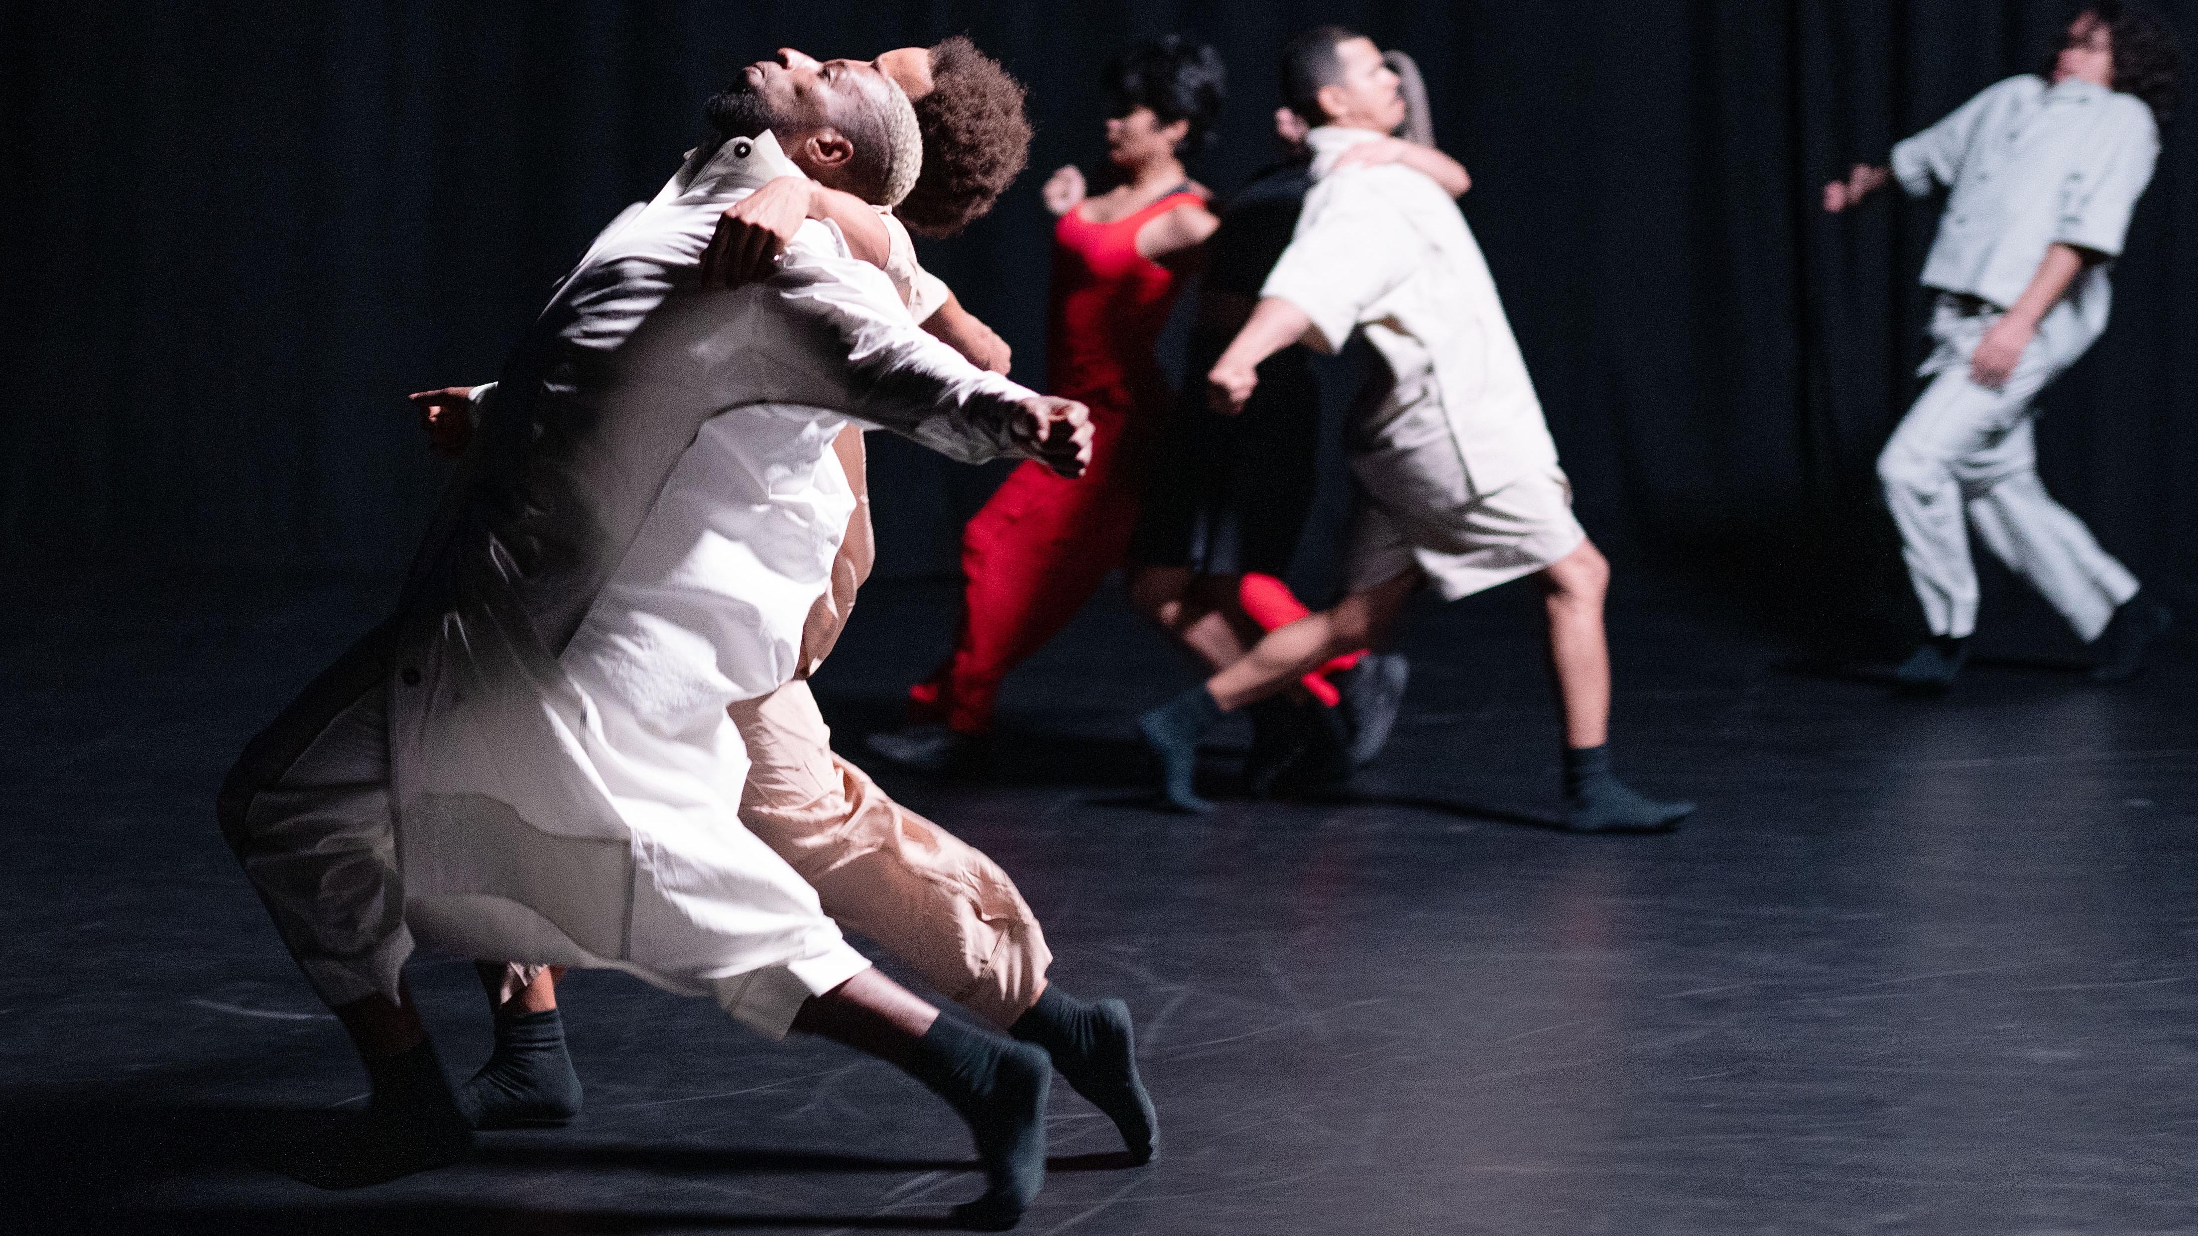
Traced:
<path fill-rule="evenodd" d="M 846 415 L 965 463 L 1026 454 L 1013 426 L 1035 393 L 917 327 L 875 266 L 796 237 L 771 285 L 789 312 L 837 336 L 853 393 Z"/>

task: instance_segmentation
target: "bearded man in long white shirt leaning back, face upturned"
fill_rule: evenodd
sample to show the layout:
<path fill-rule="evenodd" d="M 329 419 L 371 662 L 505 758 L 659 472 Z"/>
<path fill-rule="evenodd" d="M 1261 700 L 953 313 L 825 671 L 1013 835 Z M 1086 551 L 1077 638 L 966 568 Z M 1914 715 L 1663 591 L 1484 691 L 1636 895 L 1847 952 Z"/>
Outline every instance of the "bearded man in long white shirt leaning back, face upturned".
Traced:
<path fill-rule="evenodd" d="M 908 191 L 921 143 L 884 75 L 750 66 L 712 123 L 723 141 L 620 215 L 534 323 L 396 617 L 251 744 L 224 832 L 374 1076 L 332 1183 L 464 1150 L 400 981 L 418 931 L 624 968 L 895 1060 L 972 1122 L 991 1188 L 969 1216 L 1011 1221 L 1044 1168 L 1044 1054 L 939 1019 L 840 940 L 739 825 L 725 709 L 800 665 L 853 514 L 831 450 L 851 417 L 1064 472 L 1088 426 L 919 332 L 824 224 L 767 283 L 697 279 L 725 206 L 796 173 L 780 138 L 868 200 Z"/>

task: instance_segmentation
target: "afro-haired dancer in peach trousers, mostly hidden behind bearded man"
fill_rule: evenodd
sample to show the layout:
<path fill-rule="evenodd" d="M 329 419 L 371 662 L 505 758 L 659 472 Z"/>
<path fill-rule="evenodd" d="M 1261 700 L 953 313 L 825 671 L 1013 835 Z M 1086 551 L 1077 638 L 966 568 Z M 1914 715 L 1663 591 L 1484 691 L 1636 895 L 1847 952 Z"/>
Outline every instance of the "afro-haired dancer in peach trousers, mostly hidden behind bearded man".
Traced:
<path fill-rule="evenodd" d="M 780 59 L 815 64 L 793 48 L 782 48 Z M 923 130 L 923 171 L 910 198 L 936 184 L 919 213 L 934 220 L 934 233 L 952 235 L 989 211 L 1024 162 L 1031 125 L 1022 83 L 963 37 L 934 48 L 897 48 L 873 64 L 903 88 Z M 930 105 L 936 92 L 958 99 Z M 798 239 L 807 217 L 831 220 L 851 246 L 884 224 L 886 237 L 866 248 L 881 255 L 910 316 L 972 364 L 1004 369 L 993 347 L 998 336 L 958 310 L 952 290 L 917 263 L 899 209 L 873 206 L 811 178 L 769 180 L 728 206 L 703 257 L 703 279 L 712 279 L 712 255 L 719 255 L 717 279 L 728 285 L 769 277 L 776 255 Z M 963 321 L 941 327 L 941 318 L 954 314 Z M 492 386 L 477 386 L 415 395 L 431 408 L 431 424 L 457 415 L 435 437 L 437 450 L 464 450 L 470 430 L 464 417 L 492 393 Z M 824 913 L 844 931 L 881 944 L 978 1021 L 1044 1047 L 1062 1078 L 1114 1122 L 1130 1159 L 1150 1161 L 1158 1120 L 1136 1074 L 1128 1005 L 1081 1001 L 1053 981 L 1044 931 L 1007 872 L 892 801 L 831 749 L 809 676 L 837 643 L 877 547 L 862 432 L 842 428 L 833 452 L 855 494 L 855 514 L 833 560 L 831 588 L 802 626 L 800 667 L 791 683 L 730 709 L 750 760 L 741 825 L 809 880 Z M 459 1091 L 475 1128 L 560 1124 L 578 1113 L 580 1080 L 556 1005 L 560 973 L 560 966 L 481 964 L 497 1036 L 490 1060 Z"/>

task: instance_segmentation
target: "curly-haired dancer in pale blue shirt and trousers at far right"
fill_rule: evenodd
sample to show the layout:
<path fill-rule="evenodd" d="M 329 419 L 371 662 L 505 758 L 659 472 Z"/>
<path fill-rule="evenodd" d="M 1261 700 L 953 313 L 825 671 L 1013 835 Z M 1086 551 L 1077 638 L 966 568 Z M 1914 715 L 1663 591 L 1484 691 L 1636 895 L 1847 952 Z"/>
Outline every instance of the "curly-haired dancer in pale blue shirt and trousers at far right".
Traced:
<path fill-rule="evenodd" d="M 1932 382 L 1877 457 L 1930 626 L 1892 670 L 1903 692 L 1945 692 L 1969 659 L 1972 529 L 2099 648 L 2095 678 L 2136 674 L 2167 628 L 2167 606 L 2038 481 L 2033 426 L 2044 389 L 2106 332 L 2108 266 L 2152 182 L 2178 72 L 2158 15 L 2101 0 L 2068 22 L 2042 72 L 1985 88 L 1892 147 L 1888 167 L 1855 165 L 1824 187 L 1835 215 L 1890 180 L 1912 198 L 1950 191 L 1923 263 Z"/>

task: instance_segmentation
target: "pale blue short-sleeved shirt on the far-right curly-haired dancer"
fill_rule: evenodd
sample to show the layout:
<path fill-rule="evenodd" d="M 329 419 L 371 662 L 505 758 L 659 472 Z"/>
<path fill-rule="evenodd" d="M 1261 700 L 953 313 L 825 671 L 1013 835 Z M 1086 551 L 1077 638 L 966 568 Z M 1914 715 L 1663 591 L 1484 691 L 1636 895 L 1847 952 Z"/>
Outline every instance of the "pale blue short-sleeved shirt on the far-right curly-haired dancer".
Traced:
<path fill-rule="evenodd" d="M 2005 310 L 2053 244 L 2117 257 L 2158 154 L 2152 108 L 2134 94 L 2082 79 L 2046 86 L 2035 75 L 1985 88 L 1892 147 L 1892 173 L 1910 195 L 1952 187 L 1923 285 Z M 2106 327 L 2110 296 L 2106 263 L 2068 294 L 2092 334 Z"/>

